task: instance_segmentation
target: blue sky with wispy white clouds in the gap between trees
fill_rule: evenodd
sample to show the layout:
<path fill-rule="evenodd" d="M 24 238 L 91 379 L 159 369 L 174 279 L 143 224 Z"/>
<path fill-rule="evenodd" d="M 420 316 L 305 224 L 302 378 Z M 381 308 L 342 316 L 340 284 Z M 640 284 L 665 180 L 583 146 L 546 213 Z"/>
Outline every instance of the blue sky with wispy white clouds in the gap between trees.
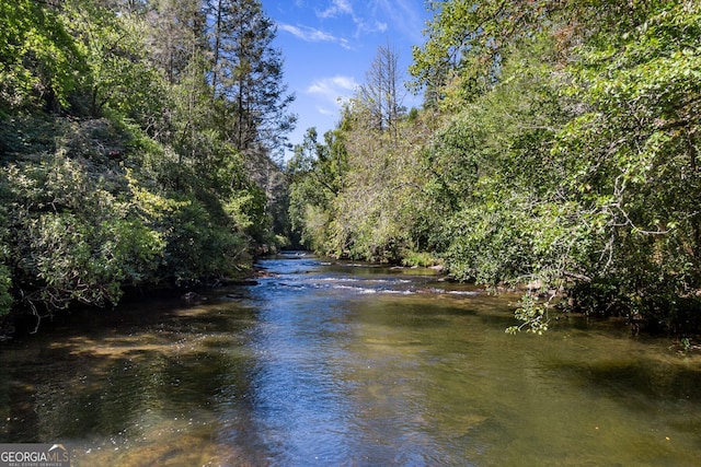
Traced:
<path fill-rule="evenodd" d="M 365 82 L 380 45 L 398 52 L 409 79 L 412 46 L 423 44 L 429 17 L 424 0 L 262 1 L 277 23 L 275 46 L 283 50 L 285 81 L 297 96 L 292 144 L 302 141 L 309 127 L 317 127 L 319 135 L 335 127 L 338 98 Z M 404 105 L 420 106 L 421 98 L 407 94 Z"/>

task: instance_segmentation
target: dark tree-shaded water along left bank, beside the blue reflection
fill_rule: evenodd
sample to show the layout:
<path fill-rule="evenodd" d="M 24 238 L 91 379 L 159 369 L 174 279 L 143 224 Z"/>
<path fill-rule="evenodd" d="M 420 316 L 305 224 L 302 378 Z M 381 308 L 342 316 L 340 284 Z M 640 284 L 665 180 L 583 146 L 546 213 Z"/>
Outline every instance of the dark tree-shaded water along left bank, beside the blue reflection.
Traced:
<path fill-rule="evenodd" d="M 261 465 L 264 450 L 231 443 L 241 433 L 256 445 L 245 421 L 255 310 L 145 300 L 92 313 L 0 348 L 0 442 L 60 440 L 78 466 Z"/>

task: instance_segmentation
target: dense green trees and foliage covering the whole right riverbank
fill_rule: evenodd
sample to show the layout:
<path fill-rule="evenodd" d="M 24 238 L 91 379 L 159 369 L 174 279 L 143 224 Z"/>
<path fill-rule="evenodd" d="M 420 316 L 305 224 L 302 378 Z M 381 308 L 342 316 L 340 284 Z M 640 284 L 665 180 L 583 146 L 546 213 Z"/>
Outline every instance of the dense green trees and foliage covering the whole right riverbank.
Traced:
<path fill-rule="evenodd" d="M 359 92 L 323 143 L 311 131 L 297 148 L 290 217 L 301 240 L 529 284 L 517 316 L 537 332 L 563 294 L 572 310 L 698 330 L 699 3 L 432 8 L 410 70 L 424 108 L 390 131 L 371 125 Z"/>

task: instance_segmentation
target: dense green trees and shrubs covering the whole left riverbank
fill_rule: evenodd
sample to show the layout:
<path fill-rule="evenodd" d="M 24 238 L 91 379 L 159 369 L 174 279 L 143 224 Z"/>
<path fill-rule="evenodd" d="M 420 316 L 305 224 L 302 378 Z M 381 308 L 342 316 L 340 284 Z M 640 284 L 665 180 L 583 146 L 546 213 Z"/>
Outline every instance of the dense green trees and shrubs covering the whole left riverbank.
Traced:
<path fill-rule="evenodd" d="M 295 117 L 275 27 L 257 0 L 210 3 L 0 1 L 0 315 L 234 277 L 276 247 L 264 182 Z"/>

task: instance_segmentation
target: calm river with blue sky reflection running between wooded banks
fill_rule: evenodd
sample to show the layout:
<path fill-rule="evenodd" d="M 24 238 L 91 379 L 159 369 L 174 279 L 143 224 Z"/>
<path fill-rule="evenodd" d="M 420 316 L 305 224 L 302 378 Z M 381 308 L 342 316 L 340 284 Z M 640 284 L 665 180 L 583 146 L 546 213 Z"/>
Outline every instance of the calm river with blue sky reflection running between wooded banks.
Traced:
<path fill-rule="evenodd" d="M 616 320 L 508 336 L 515 295 L 261 261 L 256 285 L 0 346 L 0 442 L 73 466 L 698 466 L 701 360 Z"/>

